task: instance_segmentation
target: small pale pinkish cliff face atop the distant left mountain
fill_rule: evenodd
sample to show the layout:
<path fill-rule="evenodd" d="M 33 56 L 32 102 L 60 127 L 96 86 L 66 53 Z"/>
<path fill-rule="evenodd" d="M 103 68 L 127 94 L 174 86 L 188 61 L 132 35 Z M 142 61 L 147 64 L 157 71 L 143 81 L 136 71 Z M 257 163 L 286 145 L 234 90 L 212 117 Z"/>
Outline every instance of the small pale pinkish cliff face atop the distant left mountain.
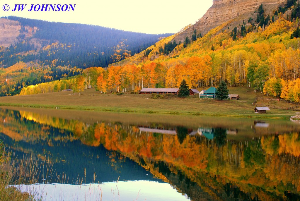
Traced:
<path fill-rule="evenodd" d="M 0 18 L 0 46 L 9 47 L 22 39 L 31 37 L 35 34 L 36 27 L 22 27 L 18 21 Z"/>

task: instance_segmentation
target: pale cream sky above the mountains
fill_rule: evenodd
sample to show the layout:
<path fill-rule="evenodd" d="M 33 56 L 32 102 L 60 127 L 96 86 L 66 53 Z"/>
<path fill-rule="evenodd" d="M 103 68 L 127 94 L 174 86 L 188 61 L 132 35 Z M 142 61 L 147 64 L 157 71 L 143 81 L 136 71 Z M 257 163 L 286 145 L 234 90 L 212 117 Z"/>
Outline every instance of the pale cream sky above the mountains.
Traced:
<path fill-rule="evenodd" d="M 9 5 L 9 10 L 4 11 Z M 15 4 L 27 4 L 12 11 Z M 76 4 L 74 11 L 28 11 L 31 4 Z M 194 24 L 211 7 L 212 0 L 0 0 L 0 16 L 19 16 L 54 22 L 100 25 L 125 31 L 177 33 Z"/>

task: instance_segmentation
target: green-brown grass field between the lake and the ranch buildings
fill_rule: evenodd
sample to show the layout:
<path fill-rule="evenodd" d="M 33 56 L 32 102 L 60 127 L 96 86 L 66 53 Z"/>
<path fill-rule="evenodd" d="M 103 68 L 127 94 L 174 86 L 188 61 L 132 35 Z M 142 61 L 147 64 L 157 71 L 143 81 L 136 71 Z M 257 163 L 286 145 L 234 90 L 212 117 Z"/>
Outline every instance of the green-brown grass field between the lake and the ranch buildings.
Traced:
<path fill-rule="evenodd" d="M 288 118 L 298 114 L 297 111 L 279 109 L 271 109 L 271 111 L 267 111 L 267 114 L 254 113 L 255 106 L 252 103 L 257 96 L 262 97 L 263 95 L 259 92 L 255 93 L 251 88 L 229 87 L 229 94 L 239 94 L 240 100 L 220 101 L 216 99 L 199 99 L 199 96 L 189 96 L 184 99 L 178 97 L 152 99 L 151 95 L 125 93 L 124 95 L 117 96 L 111 93 L 101 94 L 95 91 L 95 89 L 88 89 L 84 90 L 81 95 L 78 93 L 74 95 L 73 92 L 55 92 L 0 97 L 0 105 L 263 118 Z"/>

